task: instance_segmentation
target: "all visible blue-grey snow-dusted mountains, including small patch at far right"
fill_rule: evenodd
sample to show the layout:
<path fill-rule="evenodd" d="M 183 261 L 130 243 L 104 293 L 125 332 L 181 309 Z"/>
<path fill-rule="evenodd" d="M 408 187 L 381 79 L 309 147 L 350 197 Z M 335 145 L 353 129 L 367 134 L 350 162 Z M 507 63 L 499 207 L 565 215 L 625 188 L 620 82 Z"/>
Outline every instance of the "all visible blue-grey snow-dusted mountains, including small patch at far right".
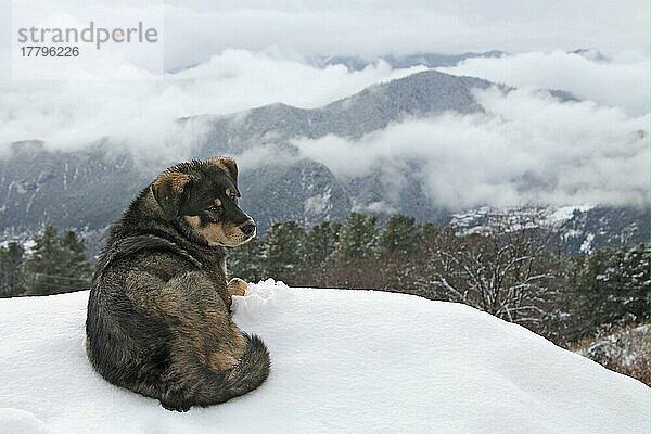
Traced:
<path fill-rule="evenodd" d="M 257 159 L 241 165 L 240 179 L 242 206 L 253 215 L 260 233 L 278 221 L 311 226 L 324 219 L 343 219 L 350 210 L 380 217 L 403 213 L 445 224 L 450 219 L 449 212 L 432 204 L 419 162 L 406 163 L 399 186 L 392 183 L 393 178 L 382 165 L 366 175 L 340 179 L 323 164 L 299 157 L 292 141 L 327 135 L 356 140 L 405 118 L 481 112 L 483 107 L 473 91 L 489 86 L 482 79 L 425 71 L 369 87 L 319 108 L 279 103 L 231 115 L 181 118 L 178 127 L 189 135 L 203 131 L 193 146 L 184 150 L 186 158 L 244 155 Z M 551 93 L 564 101 L 573 99 L 566 92 Z M 11 151 L 0 157 L 3 238 L 26 239 L 42 225 L 52 224 L 82 230 L 90 250 L 97 252 L 106 226 L 156 174 L 175 163 L 168 158 L 132 153 L 125 146 L 118 150 L 110 139 L 78 151 L 51 151 L 38 141 L 13 143 Z M 595 212 L 583 216 L 583 220 L 577 217 L 573 220 L 575 227 L 565 231 L 564 242 L 573 251 L 580 252 L 589 234 L 595 237 L 592 247 L 617 240 L 630 243 L 649 239 L 648 228 L 642 225 L 648 221 L 643 219 L 648 213 L 613 209 L 607 216 L 608 222 L 599 222 L 601 217 L 592 218 L 590 213 Z"/>

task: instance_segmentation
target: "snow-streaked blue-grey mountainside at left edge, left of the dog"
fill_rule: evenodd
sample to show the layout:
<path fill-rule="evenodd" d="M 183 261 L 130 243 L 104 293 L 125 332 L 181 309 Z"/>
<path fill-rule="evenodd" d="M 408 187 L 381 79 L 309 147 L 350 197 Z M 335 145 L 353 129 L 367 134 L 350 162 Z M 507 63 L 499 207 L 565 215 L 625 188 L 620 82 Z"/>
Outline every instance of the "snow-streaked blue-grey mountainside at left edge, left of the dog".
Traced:
<path fill-rule="evenodd" d="M 5 235 L 44 224 L 103 228 L 149 178 L 129 153 L 102 143 L 76 152 L 13 143 L 10 156 L 0 158 L 0 228 Z"/>

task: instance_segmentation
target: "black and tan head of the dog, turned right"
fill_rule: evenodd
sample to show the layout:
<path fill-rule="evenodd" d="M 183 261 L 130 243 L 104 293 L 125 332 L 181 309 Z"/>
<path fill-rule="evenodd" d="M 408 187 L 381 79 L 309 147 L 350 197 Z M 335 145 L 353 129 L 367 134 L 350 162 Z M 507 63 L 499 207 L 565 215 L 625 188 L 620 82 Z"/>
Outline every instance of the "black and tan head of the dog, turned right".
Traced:
<path fill-rule="evenodd" d="M 238 166 L 230 157 L 179 163 L 151 184 L 159 214 L 210 246 L 243 244 L 255 222 L 239 206 Z"/>

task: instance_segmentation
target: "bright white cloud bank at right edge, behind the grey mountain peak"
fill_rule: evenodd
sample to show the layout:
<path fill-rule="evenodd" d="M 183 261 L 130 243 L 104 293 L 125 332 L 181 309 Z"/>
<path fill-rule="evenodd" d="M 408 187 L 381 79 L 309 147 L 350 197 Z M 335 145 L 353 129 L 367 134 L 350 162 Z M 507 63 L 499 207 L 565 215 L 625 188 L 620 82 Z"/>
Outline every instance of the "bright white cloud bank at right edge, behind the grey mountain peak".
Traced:
<path fill-rule="evenodd" d="M 648 58 L 599 62 L 562 51 L 529 52 L 468 59 L 437 69 L 520 88 L 562 89 L 580 99 L 623 107 L 633 115 L 649 111 Z"/>

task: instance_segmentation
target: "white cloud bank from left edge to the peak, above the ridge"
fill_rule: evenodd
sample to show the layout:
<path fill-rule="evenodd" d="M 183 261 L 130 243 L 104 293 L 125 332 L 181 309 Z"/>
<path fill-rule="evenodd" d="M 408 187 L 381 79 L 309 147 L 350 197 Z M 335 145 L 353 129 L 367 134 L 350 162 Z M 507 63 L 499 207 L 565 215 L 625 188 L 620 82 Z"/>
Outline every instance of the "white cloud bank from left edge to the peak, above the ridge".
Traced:
<path fill-rule="evenodd" d="M 183 157 L 204 131 L 179 129 L 180 117 L 276 102 L 317 107 L 422 69 L 376 63 L 349 72 L 226 50 L 206 64 L 165 76 L 135 68 L 130 80 L 5 81 L 0 82 L 0 146 L 36 139 L 51 149 L 75 150 L 108 140 L 117 148 Z"/>

